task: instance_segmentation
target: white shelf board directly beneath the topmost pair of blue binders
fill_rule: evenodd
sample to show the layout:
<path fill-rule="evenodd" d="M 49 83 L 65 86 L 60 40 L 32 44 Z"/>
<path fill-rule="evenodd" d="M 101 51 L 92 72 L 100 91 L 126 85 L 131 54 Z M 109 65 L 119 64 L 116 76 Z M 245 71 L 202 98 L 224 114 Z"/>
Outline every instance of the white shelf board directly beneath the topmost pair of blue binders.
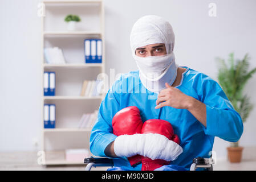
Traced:
<path fill-rule="evenodd" d="M 80 63 L 80 64 L 43 64 L 44 68 L 90 68 L 102 67 L 102 63 Z"/>

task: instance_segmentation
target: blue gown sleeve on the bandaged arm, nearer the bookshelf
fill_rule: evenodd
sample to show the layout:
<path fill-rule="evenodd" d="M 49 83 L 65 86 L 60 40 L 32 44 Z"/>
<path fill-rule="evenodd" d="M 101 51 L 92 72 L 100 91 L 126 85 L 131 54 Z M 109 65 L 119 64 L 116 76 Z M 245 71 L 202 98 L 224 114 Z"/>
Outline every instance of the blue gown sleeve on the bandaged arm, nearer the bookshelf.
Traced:
<path fill-rule="evenodd" d="M 119 111 L 120 79 L 108 90 L 101 102 L 95 125 L 91 131 L 90 150 L 96 156 L 107 157 L 104 150 L 117 137 L 113 134 L 112 118 Z"/>

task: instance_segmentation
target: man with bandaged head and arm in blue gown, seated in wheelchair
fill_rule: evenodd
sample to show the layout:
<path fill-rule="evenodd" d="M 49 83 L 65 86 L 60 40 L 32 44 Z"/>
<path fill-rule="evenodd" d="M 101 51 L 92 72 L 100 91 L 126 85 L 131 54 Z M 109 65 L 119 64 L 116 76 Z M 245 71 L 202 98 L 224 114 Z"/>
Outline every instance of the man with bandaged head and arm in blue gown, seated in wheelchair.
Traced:
<path fill-rule="evenodd" d="M 101 102 L 90 138 L 94 155 L 110 156 L 115 158 L 115 166 L 140 170 L 141 164 L 131 167 L 127 157 L 153 151 L 154 159 L 164 154 L 175 159 L 170 164 L 189 168 L 193 158 L 209 158 L 214 137 L 230 142 L 241 137 L 241 117 L 217 82 L 193 69 L 177 67 L 169 22 L 155 15 L 137 20 L 131 32 L 131 48 L 139 71 L 122 75 Z M 173 142 L 163 149 L 148 138 L 113 135 L 113 116 L 128 106 L 139 108 L 143 122 L 170 122 L 180 145 Z M 138 141 L 143 147 L 136 146 Z M 168 153 L 167 148 L 177 150 Z"/>

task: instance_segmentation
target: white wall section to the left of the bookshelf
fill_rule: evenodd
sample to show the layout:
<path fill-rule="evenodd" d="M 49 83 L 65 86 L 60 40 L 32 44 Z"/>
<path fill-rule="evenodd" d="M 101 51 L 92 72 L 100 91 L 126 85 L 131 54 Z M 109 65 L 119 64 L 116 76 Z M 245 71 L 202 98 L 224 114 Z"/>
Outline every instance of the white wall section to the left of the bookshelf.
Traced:
<path fill-rule="evenodd" d="M 40 138 L 39 1 L 0 1 L 0 151 L 34 150 Z"/>

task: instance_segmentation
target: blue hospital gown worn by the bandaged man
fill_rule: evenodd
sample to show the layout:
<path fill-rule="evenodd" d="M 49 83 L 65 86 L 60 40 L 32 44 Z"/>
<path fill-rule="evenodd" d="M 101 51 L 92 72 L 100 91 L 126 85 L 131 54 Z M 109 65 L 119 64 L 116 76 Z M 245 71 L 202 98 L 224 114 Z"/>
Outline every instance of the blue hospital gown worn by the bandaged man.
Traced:
<path fill-rule="evenodd" d="M 170 164 L 190 168 L 193 158 L 209 158 L 214 137 L 237 142 L 243 133 L 243 123 L 220 85 L 204 73 L 184 68 L 186 71 L 182 74 L 181 84 L 176 88 L 206 105 L 206 127 L 188 110 L 170 106 L 155 109 L 157 94 L 141 84 L 139 71 L 132 71 L 121 75 L 115 81 L 100 104 L 90 137 L 92 154 L 106 157 L 105 147 L 116 138 L 113 134 L 112 118 L 117 111 L 128 106 L 137 106 L 140 109 L 143 122 L 148 119 L 164 119 L 172 124 L 174 133 L 180 138 L 183 153 Z M 132 168 L 125 157 L 115 158 L 114 165 L 125 166 L 131 170 L 141 169 L 141 164 Z"/>

